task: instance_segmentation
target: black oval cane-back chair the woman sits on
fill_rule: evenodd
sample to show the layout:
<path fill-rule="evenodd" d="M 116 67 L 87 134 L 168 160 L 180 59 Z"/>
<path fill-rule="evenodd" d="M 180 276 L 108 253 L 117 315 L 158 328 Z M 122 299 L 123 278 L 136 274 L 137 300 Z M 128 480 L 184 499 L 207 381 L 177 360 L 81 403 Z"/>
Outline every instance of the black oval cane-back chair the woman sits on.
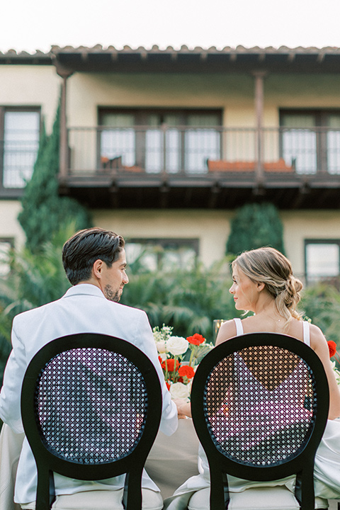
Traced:
<path fill-rule="evenodd" d="M 191 408 L 210 467 L 210 509 L 229 504 L 226 474 L 257 481 L 297 474 L 295 497 L 302 510 L 314 509 L 329 387 L 312 348 L 275 333 L 229 339 L 200 362 Z"/>

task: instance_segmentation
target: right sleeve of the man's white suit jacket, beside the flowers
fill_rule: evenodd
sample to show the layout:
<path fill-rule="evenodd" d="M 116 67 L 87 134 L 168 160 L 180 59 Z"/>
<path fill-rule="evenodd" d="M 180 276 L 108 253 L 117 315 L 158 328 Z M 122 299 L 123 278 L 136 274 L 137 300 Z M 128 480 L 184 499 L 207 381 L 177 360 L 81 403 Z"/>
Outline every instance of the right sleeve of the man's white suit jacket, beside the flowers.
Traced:
<path fill-rule="evenodd" d="M 171 436 L 171 434 L 176 431 L 178 426 L 177 407 L 176 404 L 171 400 L 169 390 L 166 387 L 164 381 L 163 370 L 161 364 L 159 363 L 157 348 L 156 344 L 154 343 L 154 336 L 152 334 L 149 319 L 147 319 L 147 314 L 142 312 L 140 317 L 141 318 L 138 321 L 137 326 L 135 345 L 147 355 L 157 370 L 158 377 L 161 382 L 163 397 L 162 419 L 159 430 L 166 434 L 166 436 Z"/>

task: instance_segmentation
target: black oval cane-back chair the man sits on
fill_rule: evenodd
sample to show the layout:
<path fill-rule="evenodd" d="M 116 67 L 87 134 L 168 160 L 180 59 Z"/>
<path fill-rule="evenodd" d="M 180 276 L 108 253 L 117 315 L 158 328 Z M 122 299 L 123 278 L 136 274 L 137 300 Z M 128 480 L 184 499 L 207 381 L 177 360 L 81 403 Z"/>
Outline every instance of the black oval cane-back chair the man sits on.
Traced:
<path fill-rule="evenodd" d="M 139 348 L 102 334 L 51 341 L 28 365 L 21 413 L 38 468 L 36 510 L 50 509 L 55 499 L 53 472 L 78 480 L 127 473 L 125 508 L 141 509 L 162 390 Z"/>

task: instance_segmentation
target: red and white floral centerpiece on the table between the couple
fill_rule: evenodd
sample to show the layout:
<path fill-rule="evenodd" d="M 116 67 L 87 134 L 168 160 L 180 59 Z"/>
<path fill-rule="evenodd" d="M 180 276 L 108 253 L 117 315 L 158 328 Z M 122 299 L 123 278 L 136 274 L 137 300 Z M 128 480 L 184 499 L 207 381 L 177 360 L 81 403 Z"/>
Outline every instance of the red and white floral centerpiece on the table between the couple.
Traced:
<path fill-rule="evenodd" d="M 154 327 L 154 341 L 171 397 L 189 401 L 196 367 L 213 346 L 198 333 L 186 339 L 183 336 L 173 336 L 173 329 L 165 324 L 160 329 Z"/>

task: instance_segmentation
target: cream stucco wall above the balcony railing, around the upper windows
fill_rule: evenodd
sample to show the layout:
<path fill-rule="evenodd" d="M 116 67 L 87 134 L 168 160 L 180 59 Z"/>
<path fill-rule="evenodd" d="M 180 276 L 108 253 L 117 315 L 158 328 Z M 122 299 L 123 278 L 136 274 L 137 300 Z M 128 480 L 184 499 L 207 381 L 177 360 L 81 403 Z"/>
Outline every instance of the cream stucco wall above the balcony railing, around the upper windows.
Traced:
<path fill-rule="evenodd" d="M 226 126 L 254 127 L 250 74 L 86 74 L 68 79 L 70 125 L 95 126 L 98 106 L 221 108 Z M 340 77 L 268 74 L 263 82 L 265 125 L 279 108 L 340 108 Z"/>

